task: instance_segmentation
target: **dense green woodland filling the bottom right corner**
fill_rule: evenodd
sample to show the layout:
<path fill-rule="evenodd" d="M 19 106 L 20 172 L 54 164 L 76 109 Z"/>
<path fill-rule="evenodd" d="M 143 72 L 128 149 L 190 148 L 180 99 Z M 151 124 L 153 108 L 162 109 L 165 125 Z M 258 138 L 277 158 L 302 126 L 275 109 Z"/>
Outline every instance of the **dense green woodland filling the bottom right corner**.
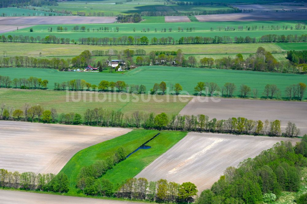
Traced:
<path fill-rule="evenodd" d="M 291 142 L 277 143 L 254 159 L 241 162 L 238 168 L 228 167 L 211 189 L 201 192 L 195 203 L 274 202 L 282 191 L 300 189 L 301 167 L 307 166 L 306 157 L 307 135 L 294 147 Z"/>

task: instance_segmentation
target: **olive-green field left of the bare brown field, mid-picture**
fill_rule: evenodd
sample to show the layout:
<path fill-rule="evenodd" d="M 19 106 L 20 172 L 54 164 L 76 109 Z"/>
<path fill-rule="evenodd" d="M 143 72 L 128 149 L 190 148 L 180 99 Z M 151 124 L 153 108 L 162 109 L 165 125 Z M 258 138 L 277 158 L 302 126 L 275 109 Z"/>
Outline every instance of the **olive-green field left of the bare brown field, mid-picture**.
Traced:
<path fill-rule="evenodd" d="M 72 95 L 70 94 L 69 96 Z M 76 95 L 74 96 L 74 98 L 78 99 Z M 91 96 L 92 100 L 90 100 Z M 45 109 L 56 108 L 58 113 L 75 112 L 81 115 L 83 115 L 87 108 L 121 110 L 126 115 L 134 111 L 154 112 L 156 114 L 165 112 L 168 115 L 173 115 L 178 114 L 188 101 L 191 100 L 191 98 L 185 98 L 186 102 L 181 102 L 177 96 L 175 98 L 169 97 L 169 101 L 167 101 L 167 96 L 158 95 L 156 96 L 157 100 L 162 102 L 155 102 L 153 97 L 148 99 L 149 96 L 144 95 L 144 99 L 148 99 L 148 101 L 142 101 L 140 98 L 138 102 L 135 102 L 131 94 L 122 96 L 106 94 L 105 97 L 103 94 L 98 94 L 97 97 L 100 101 L 96 100 L 96 95 L 81 93 L 80 98 L 82 100 L 73 102 L 71 100 L 72 97 L 69 97 L 67 101 L 65 91 L 0 89 L 0 104 L 13 106 L 15 109 L 23 109 L 24 104 L 29 103 L 31 106 L 40 104 Z M 89 103 L 91 104 L 90 106 L 88 105 Z"/>

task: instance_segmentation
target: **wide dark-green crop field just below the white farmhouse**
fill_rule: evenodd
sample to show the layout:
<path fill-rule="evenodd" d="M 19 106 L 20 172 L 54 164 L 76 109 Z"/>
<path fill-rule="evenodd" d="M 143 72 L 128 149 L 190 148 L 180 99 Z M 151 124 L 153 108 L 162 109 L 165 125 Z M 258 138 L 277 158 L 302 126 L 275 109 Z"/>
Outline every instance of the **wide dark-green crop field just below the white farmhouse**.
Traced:
<path fill-rule="evenodd" d="M 245 84 L 250 86 L 251 89 L 258 89 L 259 97 L 261 97 L 264 96 L 262 91 L 266 84 L 276 84 L 281 90 L 281 96 L 285 96 L 284 90 L 286 86 L 299 82 L 307 83 L 307 75 L 299 74 L 167 66 L 142 66 L 128 71 L 126 74 L 111 74 L 107 73 L 107 71 L 101 73 L 60 72 L 53 69 L 39 68 L 1 68 L 0 70 L 2 76 L 10 76 L 12 79 L 28 78 L 30 76 L 47 79 L 49 80 L 49 89 L 53 89 L 54 82 L 63 82 L 71 79 L 84 79 L 96 85 L 98 85 L 101 80 L 121 80 L 125 81 L 127 84 L 143 84 L 146 86 L 146 90 L 150 90 L 154 83 L 165 81 L 167 86 L 180 83 L 184 91 L 193 94 L 194 87 L 198 81 L 216 82 L 219 86 L 223 86 L 225 82 L 232 82 L 237 86 L 234 92 L 235 96 L 239 95 L 240 85 Z"/>

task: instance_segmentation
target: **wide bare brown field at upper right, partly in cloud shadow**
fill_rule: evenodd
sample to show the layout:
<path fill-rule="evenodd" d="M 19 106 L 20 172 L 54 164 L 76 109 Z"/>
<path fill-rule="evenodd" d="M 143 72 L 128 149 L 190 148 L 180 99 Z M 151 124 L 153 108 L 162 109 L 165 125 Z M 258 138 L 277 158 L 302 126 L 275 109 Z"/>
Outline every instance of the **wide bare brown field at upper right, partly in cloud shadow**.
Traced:
<path fill-rule="evenodd" d="M 195 16 L 200 22 L 307 20 L 307 12 L 226 13 Z"/>

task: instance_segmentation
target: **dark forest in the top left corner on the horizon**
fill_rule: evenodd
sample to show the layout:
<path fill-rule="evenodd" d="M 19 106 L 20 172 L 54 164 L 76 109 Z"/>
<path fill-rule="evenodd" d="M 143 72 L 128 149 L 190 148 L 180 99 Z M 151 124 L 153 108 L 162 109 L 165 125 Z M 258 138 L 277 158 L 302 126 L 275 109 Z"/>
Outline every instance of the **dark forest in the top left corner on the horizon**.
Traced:
<path fill-rule="evenodd" d="M 57 6 L 56 0 L 1 0 L 0 8 L 20 6 Z"/>

